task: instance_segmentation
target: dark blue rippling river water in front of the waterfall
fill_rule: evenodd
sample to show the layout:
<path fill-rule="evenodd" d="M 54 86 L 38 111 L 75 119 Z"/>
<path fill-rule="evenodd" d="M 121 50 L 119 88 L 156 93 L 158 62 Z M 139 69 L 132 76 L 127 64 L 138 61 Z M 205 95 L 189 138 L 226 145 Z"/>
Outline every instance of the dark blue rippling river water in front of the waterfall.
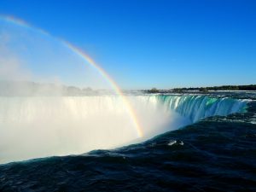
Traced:
<path fill-rule="evenodd" d="M 256 191 L 255 95 L 228 96 L 252 99 L 247 112 L 114 150 L 2 165 L 0 191 Z"/>

